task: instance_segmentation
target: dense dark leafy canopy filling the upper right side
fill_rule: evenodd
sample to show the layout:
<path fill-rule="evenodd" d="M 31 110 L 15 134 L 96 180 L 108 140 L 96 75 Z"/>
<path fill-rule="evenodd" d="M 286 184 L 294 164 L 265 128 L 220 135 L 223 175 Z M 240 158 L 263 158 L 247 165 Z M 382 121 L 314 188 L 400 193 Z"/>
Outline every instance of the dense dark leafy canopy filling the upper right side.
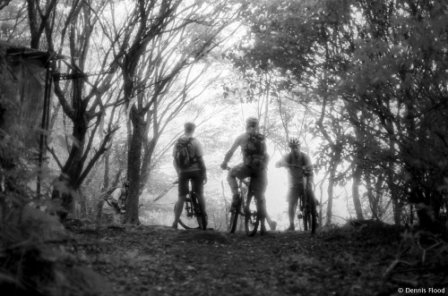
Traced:
<path fill-rule="evenodd" d="M 383 170 L 395 223 L 409 202 L 439 213 L 448 153 L 443 2 L 245 3 L 250 35 L 234 56 L 237 66 L 280 72 L 294 85 L 286 89 L 313 91 L 322 101 L 324 136 L 349 124 L 340 140 L 324 137 L 332 152 L 323 150 L 322 159 L 343 149 L 340 156 L 357 160 L 365 184 Z M 332 118 L 326 108 L 342 116 L 325 124 Z M 419 212 L 420 223 L 432 227 L 425 216 Z"/>

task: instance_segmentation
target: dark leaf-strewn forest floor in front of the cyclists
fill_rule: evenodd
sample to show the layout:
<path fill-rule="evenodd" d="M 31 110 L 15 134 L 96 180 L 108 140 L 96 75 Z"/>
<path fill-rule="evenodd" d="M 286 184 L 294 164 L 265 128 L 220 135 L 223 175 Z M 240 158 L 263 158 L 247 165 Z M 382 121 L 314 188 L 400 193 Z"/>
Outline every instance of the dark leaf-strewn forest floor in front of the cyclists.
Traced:
<path fill-rule="evenodd" d="M 446 242 L 386 224 L 254 237 L 156 225 L 71 231 L 77 264 L 106 283 L 92 294 L 448 293 Z"/>

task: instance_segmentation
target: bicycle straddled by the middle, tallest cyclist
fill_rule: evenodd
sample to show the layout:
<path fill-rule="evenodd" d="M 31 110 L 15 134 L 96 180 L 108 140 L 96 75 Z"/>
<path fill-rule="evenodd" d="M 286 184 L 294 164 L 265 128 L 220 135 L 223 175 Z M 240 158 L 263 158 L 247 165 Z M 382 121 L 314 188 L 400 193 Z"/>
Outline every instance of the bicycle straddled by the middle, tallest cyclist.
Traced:
<path fill-rule="evenodd" d="M 229 168 L 228 168 L 229 169 Z M 230 233 L 237 229 L 238 216 L 245 217 L 245 230 L 248 236 L 254 236 L 260 224 L 260 216 L 257 210 L 257 201 L 250 187 L 250 178 L 239 180 L 240 202 L 230 207 Z"/>

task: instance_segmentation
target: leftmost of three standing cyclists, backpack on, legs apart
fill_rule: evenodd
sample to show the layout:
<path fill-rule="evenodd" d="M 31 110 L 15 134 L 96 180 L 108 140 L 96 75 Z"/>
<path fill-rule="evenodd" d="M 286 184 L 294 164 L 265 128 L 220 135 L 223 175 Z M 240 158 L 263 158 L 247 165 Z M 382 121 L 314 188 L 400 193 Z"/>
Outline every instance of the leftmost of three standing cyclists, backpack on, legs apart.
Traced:
<path fill-rule="evenodd" d="M 205 213 L 205 199 L 203 197 L 203 185 L 207 183 L 207 171 L 205 168 L 205 162 L 203 161 L 202 145 L 199 140 L 193 138 L 196 124 L 192 122 L 186 122 L 184 124 L 185 134 L 179 138 L 173 149 L 173 165 L 176 169 L 178 176 L 178 199 L 175 210 L 175 217 L 172 227 L 177 229 L 179 217 L 182 214 L 186 196 L 188 194 L 188 182 L 192 181 L 192 187 L 194 192 L 198 194 L 199 206 L 202 209 L 202 213 Z M 187 156 L 185 161 L 180 162 L 179 149 L 185 148 Z M 205 214 L 207 217 L 207 215 Z"/>

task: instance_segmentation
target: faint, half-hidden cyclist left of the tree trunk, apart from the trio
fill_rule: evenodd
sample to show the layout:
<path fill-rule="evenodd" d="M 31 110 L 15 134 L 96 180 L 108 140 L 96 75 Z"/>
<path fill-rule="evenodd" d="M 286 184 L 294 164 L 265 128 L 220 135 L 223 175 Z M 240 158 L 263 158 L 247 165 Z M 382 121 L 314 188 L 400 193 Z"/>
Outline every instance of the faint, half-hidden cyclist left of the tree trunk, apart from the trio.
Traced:
<path fill-rule="evenodd" d="M 128 189 L 129 182 L 125 181 L 122 187 L 117 187 L 104 195 L 105 202 L 102 208 L 103 223 L 116 224 L 120 221 L 119 215 L 125 213 L 125 200 Z"/>

